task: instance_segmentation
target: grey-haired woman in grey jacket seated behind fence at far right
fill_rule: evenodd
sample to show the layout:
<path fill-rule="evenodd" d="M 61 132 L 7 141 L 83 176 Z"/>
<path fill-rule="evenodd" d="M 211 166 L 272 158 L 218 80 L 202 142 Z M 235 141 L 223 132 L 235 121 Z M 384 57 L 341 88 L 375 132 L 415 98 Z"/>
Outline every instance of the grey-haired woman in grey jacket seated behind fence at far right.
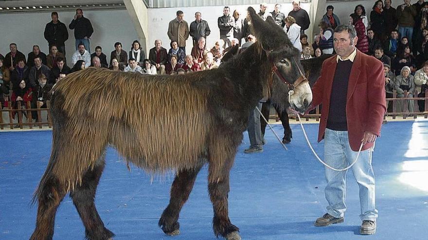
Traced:
<path fill-rule="evenodd" d="M 401 69 L 400 75 L 398 75 L 395 79 L 396 80 L 395 80 L 394 89 L 397 91 L 397 97 L 398 98 L 405 97 L 404 91 L 406 91 L 406 90 L 408 92 L 407 97 L 413 97 L 414 89 L 415 89 L 415 83 L 414 83 L 414 77 L 412 75 L 410 75 L 410 67 L 404 66 Z M 405 100 L 405 101 L 407 101 L 407 100 Z M 407 112 L 407 111 L 414 112 L 413 101 L 407 102 L 408 109 L 404 109 L 405 101 L 397 101 L 396 111 L 397 112 Z"/>

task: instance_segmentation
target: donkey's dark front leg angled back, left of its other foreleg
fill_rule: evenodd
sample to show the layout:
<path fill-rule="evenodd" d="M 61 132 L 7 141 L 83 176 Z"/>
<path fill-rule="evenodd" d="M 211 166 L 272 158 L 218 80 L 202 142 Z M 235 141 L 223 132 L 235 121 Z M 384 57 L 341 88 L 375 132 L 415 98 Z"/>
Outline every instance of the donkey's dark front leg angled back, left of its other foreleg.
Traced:
<path fill-rule="evenodd" d="M 180 234 L 178 216 L 184 203 L 189 198 L 203 162 L 199 162 L 193 169 L 185 169 L 178 173 L 171 186 L 171 198 L 168 207 L 163 210 L 159 220 L 159 226 L 168 235 Z"/>

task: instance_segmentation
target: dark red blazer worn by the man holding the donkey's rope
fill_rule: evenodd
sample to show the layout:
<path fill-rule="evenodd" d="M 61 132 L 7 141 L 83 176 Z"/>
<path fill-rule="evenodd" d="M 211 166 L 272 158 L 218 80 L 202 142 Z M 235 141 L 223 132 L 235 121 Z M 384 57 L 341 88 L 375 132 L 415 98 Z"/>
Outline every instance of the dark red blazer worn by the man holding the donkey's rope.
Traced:
<path fill-rule="evenodd" d="M 312 87 L 313 96 L 310 109 L 322 103 L 318 142 L 324 138 L 327 126 L 331 88 L 337 66 L 336 57 L 337 55 L 334 55 L 322 63 L 321 76 Z M 380 128 L 386 111 L 382 62 L 357 50 L 349 76 L 346 99 L 349 144 L 353 151 L 358 151 L 364 132 L 372 132 L 380 136 Z M 372 146 L 373 143 L 367 143 L 361 150 Z"/>

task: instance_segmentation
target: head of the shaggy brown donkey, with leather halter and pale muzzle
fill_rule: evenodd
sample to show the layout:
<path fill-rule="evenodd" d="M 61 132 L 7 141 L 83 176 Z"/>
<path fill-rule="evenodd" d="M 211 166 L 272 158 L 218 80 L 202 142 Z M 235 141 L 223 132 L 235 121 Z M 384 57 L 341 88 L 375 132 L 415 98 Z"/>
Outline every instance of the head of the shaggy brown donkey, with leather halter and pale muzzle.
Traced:
<path fill-rule="evenodd" d="M 290 106 L 303 112 L 312 101 L 312 92 L 300 64 L 300 51 L 293 47 L 284 30 L 271 17 L 266 21 L 248 8 L 252 32 L 267 54 L 272 68 L 271 100 L 282 109 Z M 297 41 L 300 41 L 298 39 Z"/>

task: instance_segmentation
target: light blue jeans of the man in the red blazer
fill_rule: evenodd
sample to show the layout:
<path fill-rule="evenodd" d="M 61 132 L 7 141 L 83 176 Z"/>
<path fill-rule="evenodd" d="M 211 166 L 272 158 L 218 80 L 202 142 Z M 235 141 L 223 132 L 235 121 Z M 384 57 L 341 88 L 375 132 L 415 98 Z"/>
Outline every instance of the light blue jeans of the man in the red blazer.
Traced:
<path fill-rule="evenodd" d="M 362 221 L 375 221 L 375 175 L 372 167 L 372 153 L 374 147 L 361 151 L 357 162 L 351 168 L 359 187 L 359 202 Z M 326 128 L 324 135 L 324 159 L 334 168 L 345 168 L 357 157 L 358 152 L 351 149 L 348 141 L 348 131 L 335 131 Z M 325 199 L 327 199 L 327 213 L 335 218 L 344 216 L 346 211 L 346 173 L 334 171 L 325 167 Z"/>

